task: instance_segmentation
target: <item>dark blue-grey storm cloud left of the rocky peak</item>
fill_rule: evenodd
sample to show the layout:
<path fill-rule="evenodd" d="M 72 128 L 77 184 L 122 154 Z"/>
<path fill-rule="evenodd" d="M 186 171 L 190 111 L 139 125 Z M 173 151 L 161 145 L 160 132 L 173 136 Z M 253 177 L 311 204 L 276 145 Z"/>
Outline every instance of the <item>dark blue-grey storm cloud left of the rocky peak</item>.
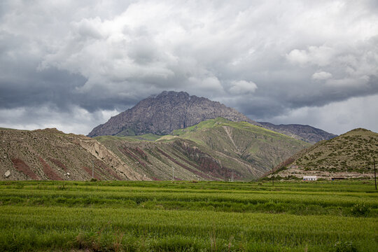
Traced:
<path fill-rule="evenodd" d="M 106 97 L 104 90 L 92 90 L 87 95 L 76 92 L 87 82 L 80 73 L 71 73 L 55 67 L 39 69 L 41 57 L 33 43 L 24 36 L 0 35 L 0 107 L 19 107 L 50 104 L 60 111 L 69 111 L 71 105 L 88 111 L 131 106 L 137 98 Z"/>

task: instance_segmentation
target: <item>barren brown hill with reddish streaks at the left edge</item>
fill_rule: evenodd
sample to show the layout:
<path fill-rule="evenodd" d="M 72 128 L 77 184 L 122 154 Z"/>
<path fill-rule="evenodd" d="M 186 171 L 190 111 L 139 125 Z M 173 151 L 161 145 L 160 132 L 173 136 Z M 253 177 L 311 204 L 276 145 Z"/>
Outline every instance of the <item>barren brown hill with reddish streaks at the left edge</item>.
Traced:
<path fill-rule="evenodd" d="M 0 180 L 141 180 L 98 141 L 56 129 L 0 128 Z"/>

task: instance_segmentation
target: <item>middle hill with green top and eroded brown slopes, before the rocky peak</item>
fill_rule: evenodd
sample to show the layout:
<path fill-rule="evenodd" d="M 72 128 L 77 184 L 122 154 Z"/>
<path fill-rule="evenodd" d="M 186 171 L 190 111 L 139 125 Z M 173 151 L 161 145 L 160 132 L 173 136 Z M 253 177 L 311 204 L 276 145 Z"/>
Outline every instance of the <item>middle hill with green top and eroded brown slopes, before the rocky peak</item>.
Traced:
<path fill-rule="evenodd" d="M 248 181 L 309 146 L 286 135 L 225 118 L 160 137 L 95 137 L 123 162 L 151 179 Z M 152 141 L 146 141 L 151 139 Z"/>

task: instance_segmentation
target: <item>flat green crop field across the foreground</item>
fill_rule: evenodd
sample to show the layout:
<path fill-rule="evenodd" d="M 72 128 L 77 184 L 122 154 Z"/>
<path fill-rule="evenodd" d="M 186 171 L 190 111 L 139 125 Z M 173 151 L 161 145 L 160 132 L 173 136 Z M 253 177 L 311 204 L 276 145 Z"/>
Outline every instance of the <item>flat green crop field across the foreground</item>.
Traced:
<path fill-rule="evenodd" d="M 372 181 L 0 182 L 0 251 L 378 251 Z"/>

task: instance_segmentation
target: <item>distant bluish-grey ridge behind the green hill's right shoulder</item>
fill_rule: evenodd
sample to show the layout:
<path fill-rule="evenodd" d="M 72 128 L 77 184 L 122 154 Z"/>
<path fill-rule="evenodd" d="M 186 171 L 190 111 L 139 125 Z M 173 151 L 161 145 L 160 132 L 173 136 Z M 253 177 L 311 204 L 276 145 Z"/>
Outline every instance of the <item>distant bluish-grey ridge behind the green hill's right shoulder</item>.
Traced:
<path fill-rule="evenodd" d="M 316 129 L 309 125 L 274 125 L 272 123 L 258 122 L 265 129 L 273 130 L 281 134 L 286 134 L 286 136 L 293 137 L 298 140 L 307 141 L 307 143 L 315 144 L 318 141 L 329 140 L 337 137 L 335 134 L 325 132 L 324 130 Z"/>

